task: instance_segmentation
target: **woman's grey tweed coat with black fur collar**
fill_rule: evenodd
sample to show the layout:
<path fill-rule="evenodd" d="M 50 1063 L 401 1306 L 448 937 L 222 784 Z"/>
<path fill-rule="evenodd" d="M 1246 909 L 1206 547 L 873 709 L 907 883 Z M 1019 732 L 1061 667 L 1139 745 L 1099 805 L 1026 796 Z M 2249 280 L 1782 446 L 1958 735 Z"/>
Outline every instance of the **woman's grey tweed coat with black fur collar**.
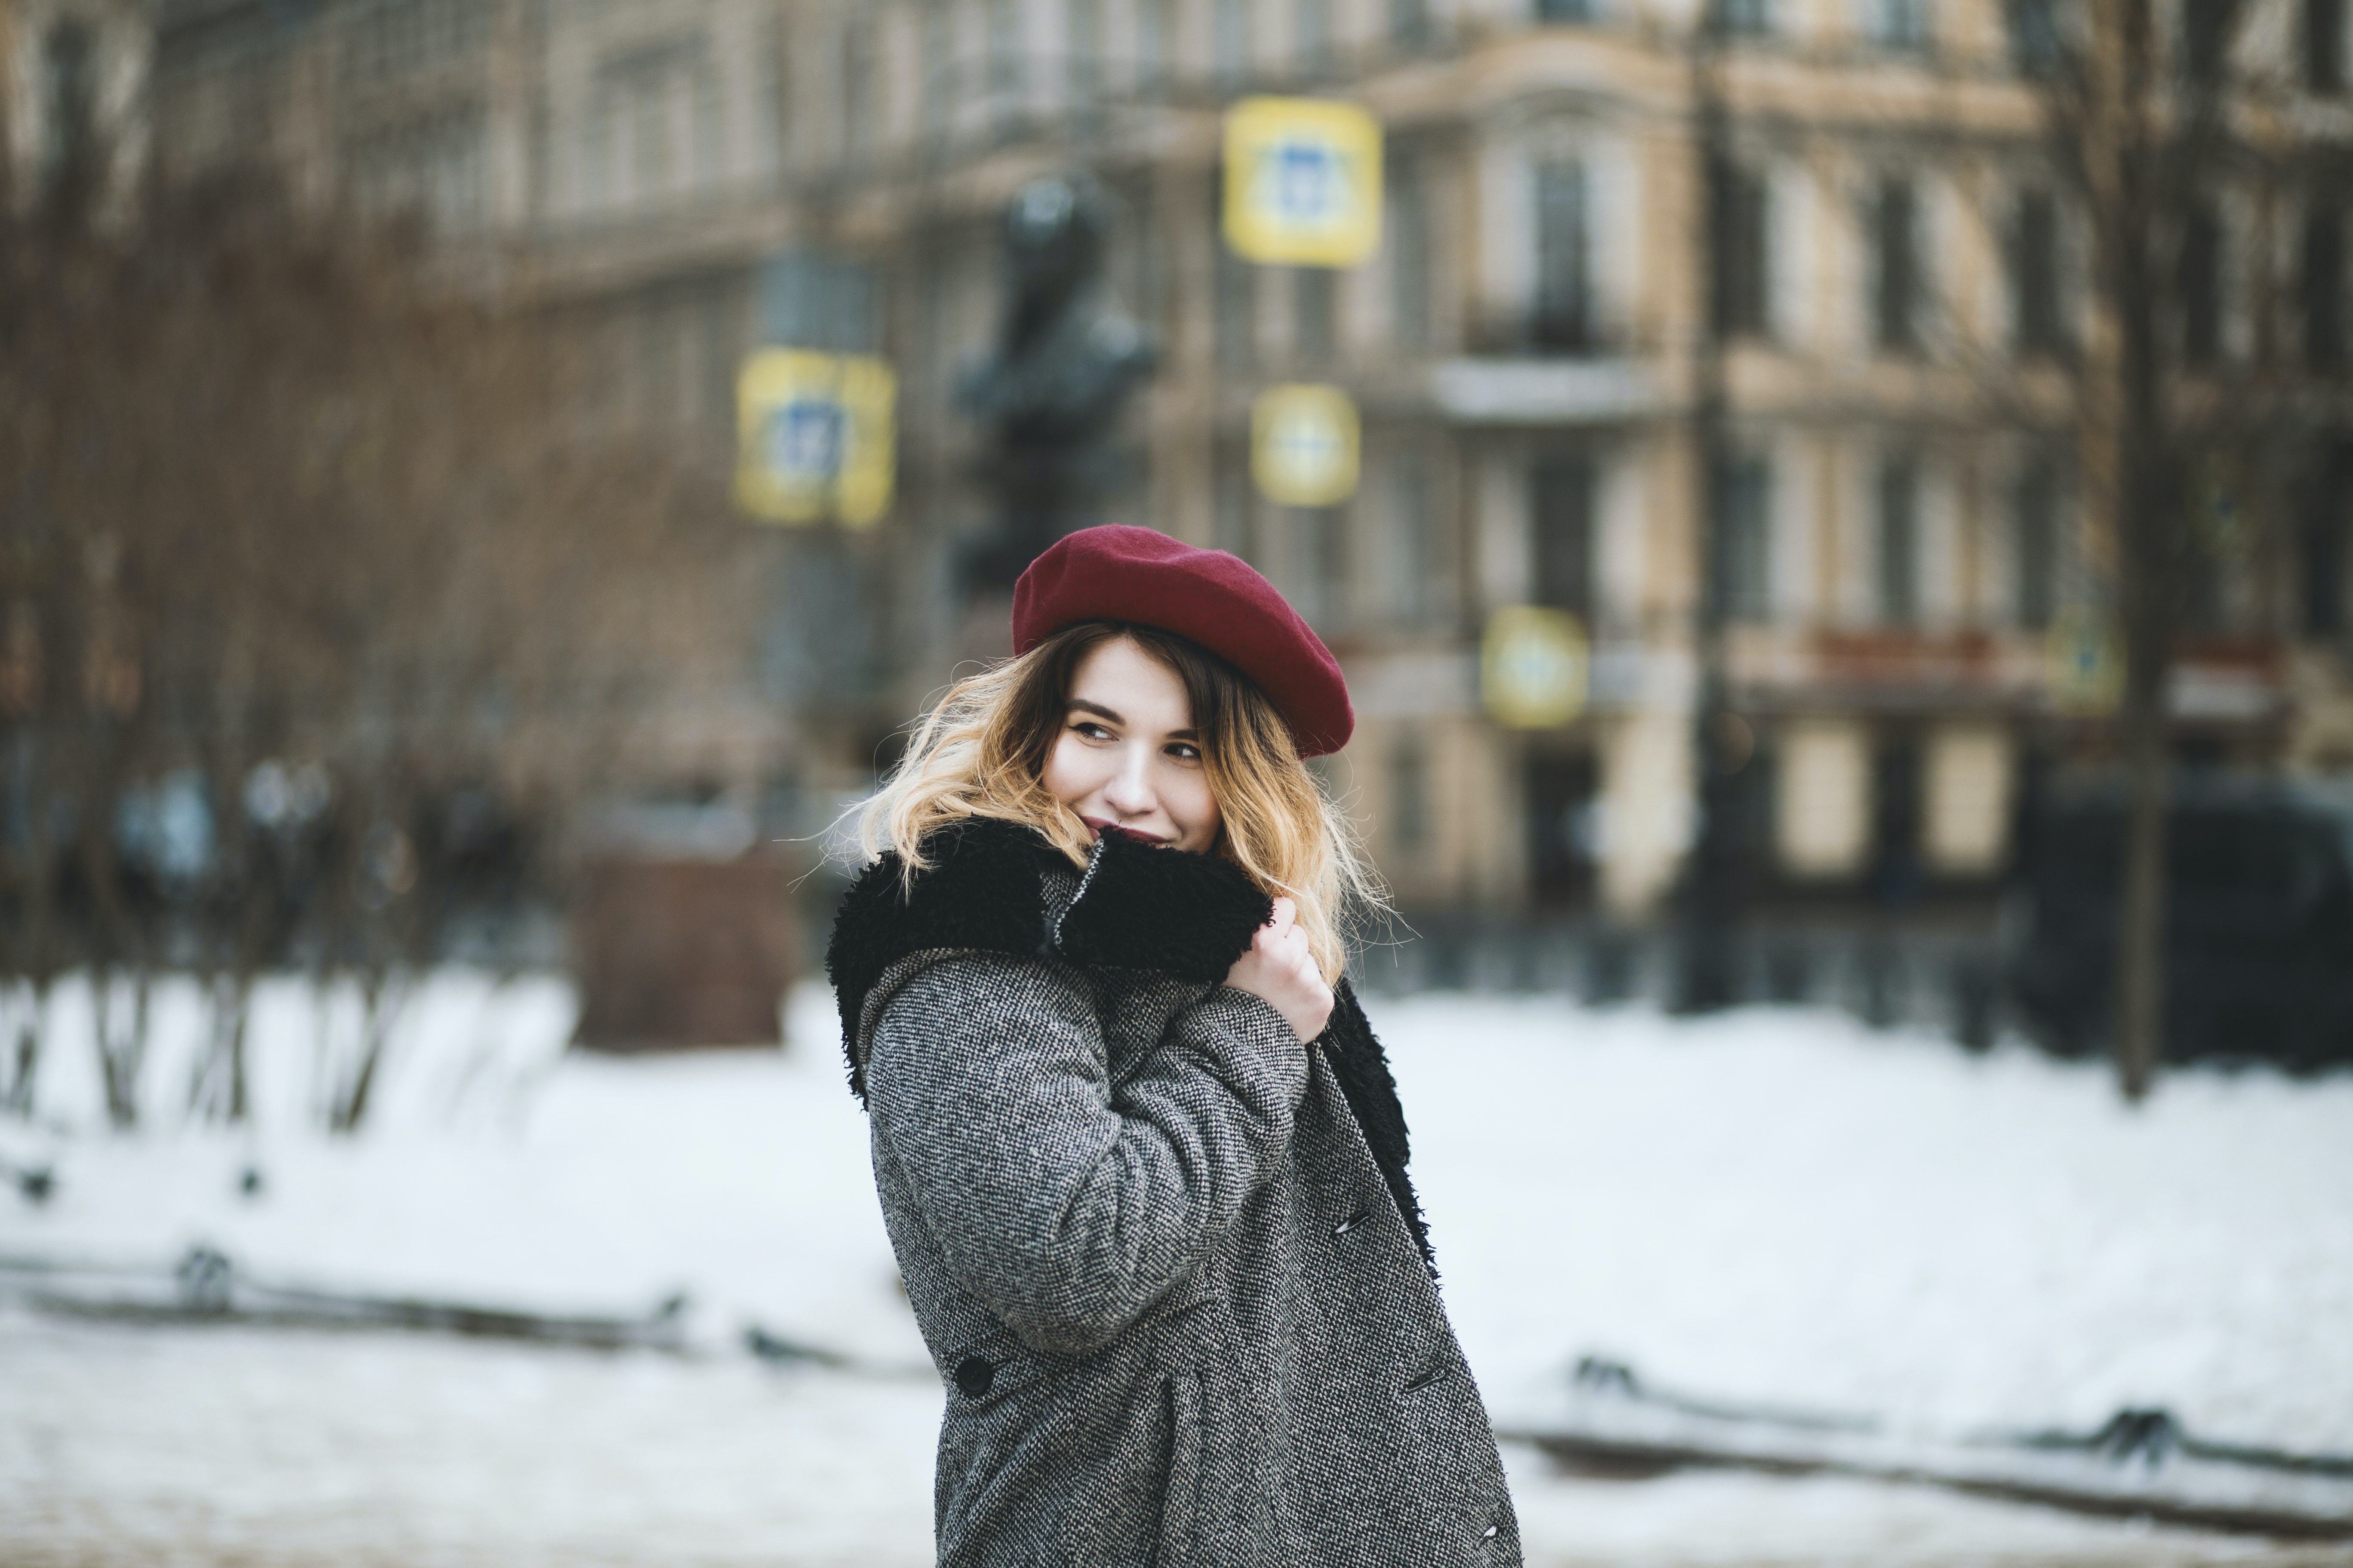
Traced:
<path fill-rule="evenodd" d="M 1301 1046 L 1219 985 L 1268 900 L 1111 835 L 885 856 L 826 954 L 948 1408 L 939 1561 L 1518 1563 L 1428 1269 L 1405 1119 L 1341 987 Z"/>

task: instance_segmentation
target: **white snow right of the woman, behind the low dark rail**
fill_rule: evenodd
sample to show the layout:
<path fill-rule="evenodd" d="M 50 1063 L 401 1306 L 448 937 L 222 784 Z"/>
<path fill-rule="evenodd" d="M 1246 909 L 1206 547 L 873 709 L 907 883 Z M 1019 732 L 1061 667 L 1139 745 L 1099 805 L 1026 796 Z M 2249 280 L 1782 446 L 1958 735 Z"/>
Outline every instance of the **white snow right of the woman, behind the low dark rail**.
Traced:
<path fill-rule="evenodd" d="M 1574 1354 L 1927 1429 L 2353 1450 L 2353 1077 L 1969 1058 L 1838 1013 L 1381 1013 L 1499 1420 Z"/>

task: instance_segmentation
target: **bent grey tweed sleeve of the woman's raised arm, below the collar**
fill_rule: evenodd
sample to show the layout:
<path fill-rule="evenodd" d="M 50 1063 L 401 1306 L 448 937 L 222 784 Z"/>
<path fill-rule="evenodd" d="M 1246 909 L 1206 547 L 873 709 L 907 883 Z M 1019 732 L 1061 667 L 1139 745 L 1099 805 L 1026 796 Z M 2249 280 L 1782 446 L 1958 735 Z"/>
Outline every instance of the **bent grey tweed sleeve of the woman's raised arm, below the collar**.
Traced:
<path fill-rule="evenodd" d="M 1066 969 L 960 952 L 873 1025 L 868 1107 L 958 1279 L 1045 1354 L 1089 1354 L 1191 1274 L 1287 1157 L 1306 1048 L 1224 985 L 1113 1095 Z"/>

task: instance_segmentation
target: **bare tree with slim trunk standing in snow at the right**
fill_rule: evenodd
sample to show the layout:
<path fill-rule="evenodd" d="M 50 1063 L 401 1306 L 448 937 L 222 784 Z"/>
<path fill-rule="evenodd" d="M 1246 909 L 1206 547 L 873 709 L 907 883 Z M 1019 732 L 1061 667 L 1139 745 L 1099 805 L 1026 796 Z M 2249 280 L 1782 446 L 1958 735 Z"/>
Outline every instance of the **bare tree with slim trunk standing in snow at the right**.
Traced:
<path fill-rule="evenodd" d="M 2292 484 L 2282 444 L 2308 430 L 2311 378 L 2292 353 L 2278 221 L 2341 200 L 2341 172 L 2261 106 L 2294 92 L 2235 61 L 2249 7 L 2085 0 L 2019 12 L 2038 71 L 2049 160 L 2089 240 L 2089 331 L 2073 367 L 2075 442 L 2094 552 L 2115 581 L 2127 776 L 2118 896 L 2113 1051 L 2118 1086 L 2141 1100 L 2165 1053 L 2167 698 L 2200 599 L 2245 534 Z M 2169 26 L 2167 26 L 2169 24 Z M 2224 343 L 2226 205 L 2247 216 L 2247 341 Z M 2280 538 L 2261 541 L 2273 552 Z"/>

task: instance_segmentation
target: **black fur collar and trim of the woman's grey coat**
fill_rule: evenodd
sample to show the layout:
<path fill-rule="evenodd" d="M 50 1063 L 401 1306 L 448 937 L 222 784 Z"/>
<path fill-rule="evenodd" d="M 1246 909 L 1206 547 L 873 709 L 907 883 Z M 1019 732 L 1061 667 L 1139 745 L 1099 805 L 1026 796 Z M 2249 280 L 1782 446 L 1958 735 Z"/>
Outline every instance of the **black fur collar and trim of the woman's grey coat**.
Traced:
<path fill-rule="evenodd" d="M 866 1100 L 866 1065 L 856 1051 L 859 1013 L 875 980 L 927 947 L 976 947 L 1016 957 L 1049 954 L 1101 969 L 1151 969 L 1212 985 L 1226 978 L 1273 914 L 1273 900 L 1242 867 L 1217 856 L 1153 849 L 1106 835 L 1087 860 L 1078 896 L 1049 917 L 1042 870 L 1068 860 L 1038 832 L 974 818 L 925 844 L 932 870 L 901 893 L 899 856 L 866 867 L 842 896 L 826 945 L 826 976 L 842 1013 L 849 1088 Z M 1052 924 L 1049 924 L 1052 922 Z M 1339 1079 L 1381 1178 L 1421 1255 L 1431 1244 L 1421 1204 L 1405 1173 L 1409 1145 L 1398 1084 L 1381 1041 L 1346 980 L 1332 1023 L 1315 1041 Z"/>

